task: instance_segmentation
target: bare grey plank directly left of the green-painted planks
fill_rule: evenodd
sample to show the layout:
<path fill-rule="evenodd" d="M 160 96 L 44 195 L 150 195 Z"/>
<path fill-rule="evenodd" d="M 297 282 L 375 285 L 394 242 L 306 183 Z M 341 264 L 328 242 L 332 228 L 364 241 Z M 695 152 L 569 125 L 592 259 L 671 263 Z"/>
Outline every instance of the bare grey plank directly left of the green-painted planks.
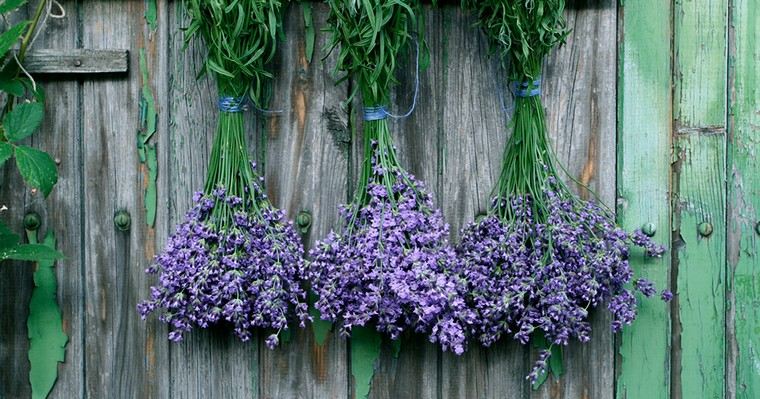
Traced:
<path fill-rule="evenodd" d="M 544 66 L 543 103 L 561 176 L 582 198 L 615 204 L 615 63 L 617 2 L 568 4 L 573 31 Z M 570 179 L 574 179 L 589 190 Z M 547 379 L 533 397 L 610 398 L 614 389 L 614 336 L 605 306 L 592 314 L 592 340 L 563 350 L 565 374 Z M 531 359 L 537 356 L 534 349 Z M 527 372 L 523 372 L 527 373 Z"/>

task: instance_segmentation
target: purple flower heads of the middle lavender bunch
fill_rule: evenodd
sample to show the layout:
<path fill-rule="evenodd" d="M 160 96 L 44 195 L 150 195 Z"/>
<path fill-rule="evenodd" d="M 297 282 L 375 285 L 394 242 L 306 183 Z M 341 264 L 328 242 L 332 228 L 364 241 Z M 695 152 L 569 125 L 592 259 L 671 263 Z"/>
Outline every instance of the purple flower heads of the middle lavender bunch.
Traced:
<path fill-rule="evenodd" d="M 475 315 L 464 300 L 448 225 L 413 176 L 375 162 L 372 173 L 366 205 L 342 207 L 340 233 L 310 253 L 315 306 L 323 319 L 340 321 L 344 335 L 365 325 L 392 339 L 416 331 L 461 354 Z"/>

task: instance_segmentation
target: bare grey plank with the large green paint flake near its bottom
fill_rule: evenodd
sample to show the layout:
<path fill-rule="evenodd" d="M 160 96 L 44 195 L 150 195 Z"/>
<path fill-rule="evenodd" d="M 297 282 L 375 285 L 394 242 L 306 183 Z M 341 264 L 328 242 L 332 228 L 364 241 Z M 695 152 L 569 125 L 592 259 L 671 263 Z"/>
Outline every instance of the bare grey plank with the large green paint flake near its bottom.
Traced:
<path fill-rule="evenodd" d="M 48 19 L 35 47 L 74 48 L 78 27 L 74 1 L 62 2 L 67 18 Z M 30 52 L 27 57 L 34 53 Z M 28 58 L 27 58 L 28 59 Z M 83 204 L 72 201 L 82 196 L 80 83 L 38 78 L 45 89 L 45 121 L 34 136 L 39 145 L 60 161 L 58 183 L 47 201 L 40 202 L 46 224 L 56 234 L 58 249 L 66 256 L 55 264 L 58 278 L 58 304 L 63 316 L 63 329 L 69 337 L 65 362 L 58 368 L 58 380 L 50 398 L 84 396 L 84 259 L 82 251 Z"/>

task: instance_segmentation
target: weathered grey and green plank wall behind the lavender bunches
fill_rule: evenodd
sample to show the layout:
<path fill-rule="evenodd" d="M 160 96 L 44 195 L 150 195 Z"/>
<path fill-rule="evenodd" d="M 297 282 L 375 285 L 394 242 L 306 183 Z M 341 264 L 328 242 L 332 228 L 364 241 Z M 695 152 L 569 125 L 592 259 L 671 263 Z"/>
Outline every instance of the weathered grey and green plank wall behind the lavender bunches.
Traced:
<path fill-rule="evenodd" d="M 294 331 L 270 351 L 261 339 L 243 344 L 222 328 L 170 344 L 155 318 L 139 319 L 135 306 L 154 282 L 143 270 L 202 187 L 216 90 L 195 78 L 204 49 L 182 49 L 180 1 L 62 4 L 66 18 L 51 20 L 36 48 L 122 48 L 130 56 L 126 75 L 41 82 L 47 115 L 33 144 L 60 160 L 47 200 L 16 188 L 12 167 L 0 170 L 0 200 L 10 208 L 3 220 L 19 227 L 36 210 L 67 256 L 57 273 L 70 341 L 50 397 L 354 397 L 350 341 L 333 332 L 318 343 L 311 327 Z M 311 60 L 304 7 L 316 31 Z M 145 18 L 153 11 L 155 24 Z M 427 183 L 457 240 L 487 207 L 511 99 L 499 95 L 505 72 L 488 57 L 472 17 L 455 5 L 426 12 L 431 65 L 421 72 L 417 109 L 392 129 L 402 162 Z M 758 397 L 758 12 L 747 0 L 569 1 L 573 31 L 545 65 L 543 99 L 560 161 L 617 208 L 625 228 L 651 224 L 655 239 L 672 247 L 661 259 L 631 258 L 637 273 L 674 290 L 672 303 L 644 301 L 635 325 L 618 336 L 607 315 L 593 315 L 592 341 L 572 344 L 564 377 L 538 391 L 524 379 L 535 351 L 512 342 L 462 357 L 424 338 L 405 340 L 396 357 L 384 342 L 370 397 Z M 357 104 L 343 104 L 352 82 L 336 85 L 334 56 L 322 59 L 326 16 L 322 3 L 289 6 L 287 40 L 273 65 L 271 109 L 282 113 L 248 118 L 248 145 L 271 199 L 291 218 L 311 217 L 307 248 L 336 227 L 361 156 Z M 393 93 L 397 110 L 412 100 L 410 61 Z M 153 226 L 145 212 L 148 166 L 135 140 L 146 89 L 158 121 L 150 140 L 158 154 Z M 126 232 L 112 222 L 121 209 L 131 214 Z M 0 398 L 31 394 L 31 271 L 0 267 Z"/>

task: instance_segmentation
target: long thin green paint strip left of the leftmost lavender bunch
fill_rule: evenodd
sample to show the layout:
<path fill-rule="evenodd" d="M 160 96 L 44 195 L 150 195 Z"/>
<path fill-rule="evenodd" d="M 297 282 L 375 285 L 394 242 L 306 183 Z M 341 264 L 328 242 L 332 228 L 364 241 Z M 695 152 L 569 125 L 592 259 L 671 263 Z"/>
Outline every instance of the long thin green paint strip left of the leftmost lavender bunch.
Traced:
<path fill-rule="evenodd" d="M 147 164 L 148 182 L 145 188 L 145 219 L 148 226 L 156 223 L 156 180 L 158 179 L 158 157 L 156 144 L 149 144 L 156 133 L 156 100 L 150 88 L 148 61 L 145 49 L 140 49 L 140 73 L 142 75 L 142 91 L 140 92 L 140 129 L 137 131 L 137 153 L 140 163 Z"/>

